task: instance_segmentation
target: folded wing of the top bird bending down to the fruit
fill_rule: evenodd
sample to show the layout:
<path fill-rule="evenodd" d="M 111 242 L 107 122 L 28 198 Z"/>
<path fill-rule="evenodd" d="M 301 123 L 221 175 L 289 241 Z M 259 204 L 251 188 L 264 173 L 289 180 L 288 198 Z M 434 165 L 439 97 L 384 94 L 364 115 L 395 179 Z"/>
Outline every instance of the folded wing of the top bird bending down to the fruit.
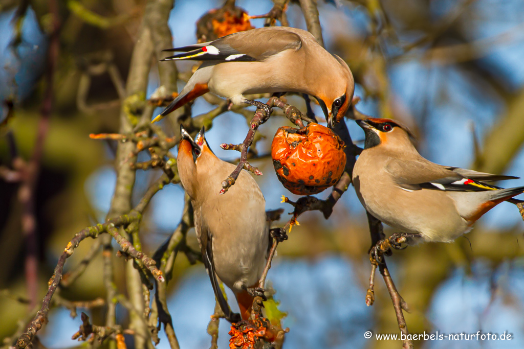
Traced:
<path fill-rule="evenodd" d="M 294 32 L 260 28 L 233 33 L 211 42 L 195 44 L 164 51 L 180 51 L 162 61 L 195 60 L 221 62 L 255 62 L 285 50 L 299 50 L 300 36 Z"/>

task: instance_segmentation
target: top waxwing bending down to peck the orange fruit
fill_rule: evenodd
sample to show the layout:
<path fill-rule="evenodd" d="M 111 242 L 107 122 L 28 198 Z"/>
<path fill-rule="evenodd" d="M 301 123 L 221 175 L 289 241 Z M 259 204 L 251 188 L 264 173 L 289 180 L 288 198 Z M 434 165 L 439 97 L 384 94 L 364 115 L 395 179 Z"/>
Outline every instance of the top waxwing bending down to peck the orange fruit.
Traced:
<path fill-rule="evenodd" d="M 177 98 L 152 122 L 207 92 L 235 105 L 269 107 L 244 94 L 296 92 L 314 96 L 328 126 L 342 120 L 353 98 L 355 83 L 347 64 L 326 51 L 310 32 L 291 27 L 265 27 L 237 32 L 212 42 L 169 49 L 183 53 L 168 60 L 203 64 Z"/>

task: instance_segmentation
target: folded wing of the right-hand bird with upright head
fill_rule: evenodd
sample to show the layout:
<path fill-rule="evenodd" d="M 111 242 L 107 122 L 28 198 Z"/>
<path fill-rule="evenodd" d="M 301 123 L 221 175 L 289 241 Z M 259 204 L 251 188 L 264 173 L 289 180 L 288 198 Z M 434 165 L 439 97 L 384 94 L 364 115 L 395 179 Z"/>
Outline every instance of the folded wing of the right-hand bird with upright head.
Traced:
<path fill-rule="evenodd" d="M 476 172 L 460 167 L 442 166 L 423 158 L 411 161 L 390 161 L 385 169 L 394 177 L 400 187 L 409 190 L 438 189 L 454 192 L 481 192 L 499 189 L 485 182 L 518 178 Z"/>

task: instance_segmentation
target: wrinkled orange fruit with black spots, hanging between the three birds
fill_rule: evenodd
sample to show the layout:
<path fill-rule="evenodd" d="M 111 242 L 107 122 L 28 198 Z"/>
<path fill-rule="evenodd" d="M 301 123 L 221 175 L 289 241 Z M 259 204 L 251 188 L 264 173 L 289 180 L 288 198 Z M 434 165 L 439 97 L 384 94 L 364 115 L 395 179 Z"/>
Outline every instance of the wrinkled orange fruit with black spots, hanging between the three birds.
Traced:
<path fill-rule="evenodd" d="M 346 165 L 344 147 L 335 132 L 318 123 L 301 129 L 280 127 L 271 143 L 271 157 L 286 189 L 310 195 L 339 181 Z"/>

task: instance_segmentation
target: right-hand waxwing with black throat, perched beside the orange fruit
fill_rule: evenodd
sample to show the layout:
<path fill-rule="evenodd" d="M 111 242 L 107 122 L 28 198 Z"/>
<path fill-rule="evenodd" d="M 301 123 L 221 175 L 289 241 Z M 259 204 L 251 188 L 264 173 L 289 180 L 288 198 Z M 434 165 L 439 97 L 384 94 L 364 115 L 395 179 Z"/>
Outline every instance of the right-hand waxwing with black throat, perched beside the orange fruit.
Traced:
<path fill-rule="evenodd" d="M 408 242 L 451 242 L 500 202 L 524 192 L 524 187 L 503 189 L 486 183 L 518 177 L 424 159 L 413 146 L 410 131 L 397 121 L 356 122 L 364 129 L 366 140 L 355 163 L 353 184 L 369 213 L 402 231 L 389 238 L 392 247 L 399 247 L 399 237 Z"/>

